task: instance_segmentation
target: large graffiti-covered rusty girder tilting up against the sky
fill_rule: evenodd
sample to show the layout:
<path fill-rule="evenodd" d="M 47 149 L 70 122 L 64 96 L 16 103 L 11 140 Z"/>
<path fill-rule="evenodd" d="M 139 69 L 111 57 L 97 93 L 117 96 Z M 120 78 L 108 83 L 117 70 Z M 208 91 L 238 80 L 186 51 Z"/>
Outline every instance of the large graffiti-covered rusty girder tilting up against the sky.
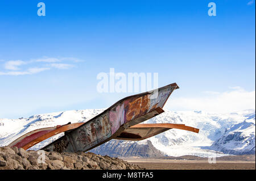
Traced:
<path fill-rule="evenodd" d="M 176 83 L 153 91 L 144 92 L 119 100 L 100 115 L 82 124 L 65 136 L 45 146 L 44 150 L 58 152 L 87 151 L 119 136 L 125 129 L 142 123 L 162 110 L 172 91 L 178 89 Z"/>

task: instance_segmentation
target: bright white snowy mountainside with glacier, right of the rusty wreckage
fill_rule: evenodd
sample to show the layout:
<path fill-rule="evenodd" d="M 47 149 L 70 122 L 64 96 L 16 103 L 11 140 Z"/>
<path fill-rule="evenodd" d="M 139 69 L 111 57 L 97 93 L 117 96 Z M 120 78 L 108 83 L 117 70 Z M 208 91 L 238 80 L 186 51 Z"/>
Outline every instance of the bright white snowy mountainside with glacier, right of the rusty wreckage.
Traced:
<path fill-rule="evenodd" d="M 240 129 L 234 127 L 237 124 L 244 124 L 244 121 L 250 117 L 250 126 L 252 129 Z M 148 120 L 148 123 L 182 123 L 191 127 L 199 128 L 199 133 L 187 132 L 178 129 L 158 134 L 149 138 L 156 149 L 163 151 L 168 155 L 180 156 L 189 153 L 189 155 L 198 155 L 201 157 L 221 156 L 224 154 L 244 154 L 247 153 L 246 145 L 253 145 L 252 150 L 255 154 L 255 110 L 246 110 L 236 113 L 207 113 L 202 111 L 172 112 L 166 111 L 155 118 Z M 242 135 L 250 134 L 250 139 L 233 140 L 233 146 L 226 146 L 225 150 L 216 145 L 221 138 L 228 136 L 230 129 L 233 132 L 242 132 Z M 248 133 L 248 132 L 249 133 Z M 231 132 L 230 132 L 231 133 Z M 243 149 L 238 150 L 237 145 L 243 145 Z M 224 146 L 224 145 L 222 145 Z M 218 151 L 212 151 L 216 150 Z M 232 150 L 232 151 L 231 151 Z M 245 151 L 245 152 L 243 152 Z"/>

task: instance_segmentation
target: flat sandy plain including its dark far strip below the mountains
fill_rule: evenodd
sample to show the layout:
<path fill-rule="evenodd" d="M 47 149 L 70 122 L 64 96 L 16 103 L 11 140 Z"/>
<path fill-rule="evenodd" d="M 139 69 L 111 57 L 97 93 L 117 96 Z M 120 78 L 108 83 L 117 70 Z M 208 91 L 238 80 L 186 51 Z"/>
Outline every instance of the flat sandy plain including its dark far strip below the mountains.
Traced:
<path fill-rule="evenodd" d="M 216 163 L 209 163 L 208 158 L 194 156 L 125 160 L 150 170 L 255 170 L 255 155 L 219 157 L 216 158 Z"/>

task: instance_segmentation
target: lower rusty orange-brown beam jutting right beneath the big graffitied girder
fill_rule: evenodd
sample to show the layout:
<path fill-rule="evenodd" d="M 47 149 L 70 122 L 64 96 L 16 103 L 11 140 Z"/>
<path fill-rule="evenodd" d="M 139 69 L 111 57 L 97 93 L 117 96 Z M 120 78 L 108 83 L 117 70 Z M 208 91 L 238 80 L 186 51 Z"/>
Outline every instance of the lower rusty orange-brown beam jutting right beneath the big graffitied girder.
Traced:
<path fill-rule="evenodd" d="M 185 131 L 191 131 L 199 133 L 199 129 L 188 127 L 185 124 L 171 124 L 171 123 L 159 123 L 159 124 L 137 124 L 133 127 L 125 129 L 119 136 L 115 137 L 117 140 L 131 140 L 139 141 L 146 138 L 155 136 L 169 129 L 183 129 Z"/>

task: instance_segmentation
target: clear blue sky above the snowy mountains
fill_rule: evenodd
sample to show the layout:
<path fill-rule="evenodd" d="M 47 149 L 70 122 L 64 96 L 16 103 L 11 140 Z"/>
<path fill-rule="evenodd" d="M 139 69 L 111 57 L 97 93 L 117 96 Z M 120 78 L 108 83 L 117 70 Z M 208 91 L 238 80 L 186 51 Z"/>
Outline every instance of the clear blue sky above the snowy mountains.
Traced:
<path fill-rule="evenodd" d="M 110 68 L 176 82 L 170 110 L 255 108 L 255 1 L 0 2 L 0 117 L 109 107 Z"/>

